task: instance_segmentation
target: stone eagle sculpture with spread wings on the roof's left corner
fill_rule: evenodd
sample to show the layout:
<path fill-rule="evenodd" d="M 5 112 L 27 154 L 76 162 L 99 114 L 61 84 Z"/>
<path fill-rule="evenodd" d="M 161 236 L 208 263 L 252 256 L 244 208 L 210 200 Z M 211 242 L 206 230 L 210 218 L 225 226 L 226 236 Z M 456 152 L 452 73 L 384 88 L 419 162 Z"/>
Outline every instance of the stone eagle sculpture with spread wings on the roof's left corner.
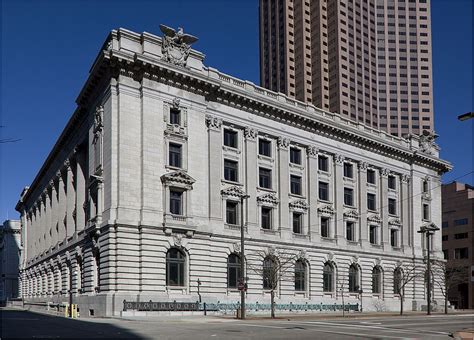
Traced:
<path fill-rule="evenodd" d="M 181 27 L 178 27 L 178 31 L 176 31 L 174 28 L 161 24 L 160 30 L 163 32 L 161 46 L 163 59 L 179 66 L 186 66 L 191 44 L 195 43 L 198 38 L 184 33 Z"/>

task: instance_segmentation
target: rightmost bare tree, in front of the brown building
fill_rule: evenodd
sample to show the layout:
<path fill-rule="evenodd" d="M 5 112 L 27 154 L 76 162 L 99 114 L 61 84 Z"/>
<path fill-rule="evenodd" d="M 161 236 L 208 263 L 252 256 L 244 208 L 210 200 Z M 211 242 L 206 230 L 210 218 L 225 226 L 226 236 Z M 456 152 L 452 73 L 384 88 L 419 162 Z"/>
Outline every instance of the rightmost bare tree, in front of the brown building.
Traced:
<path fill-rule="evenodd" d="M 457 285 L 467 282 L 468 272 L 466 267 L 458 262 L 447 263 L 445 260 L 433 260 L 431 275 L 444 297 L 444 314 L 448 314 L 449 291 Z"/>

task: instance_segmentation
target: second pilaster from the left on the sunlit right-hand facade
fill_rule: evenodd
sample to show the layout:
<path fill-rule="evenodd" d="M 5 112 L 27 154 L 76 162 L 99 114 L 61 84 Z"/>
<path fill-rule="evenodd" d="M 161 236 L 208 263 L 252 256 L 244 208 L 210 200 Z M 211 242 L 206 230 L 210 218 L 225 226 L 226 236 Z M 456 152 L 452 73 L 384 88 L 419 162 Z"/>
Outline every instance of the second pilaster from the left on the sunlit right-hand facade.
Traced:
<path fill-rule="evenodd" d="M 258 131 L 251 127 L 244 130 L 245 137 L 245 187 L 247 189 L 247 225 L 248 232 L 258 226 L 257 207 L 257 136 Z"/>

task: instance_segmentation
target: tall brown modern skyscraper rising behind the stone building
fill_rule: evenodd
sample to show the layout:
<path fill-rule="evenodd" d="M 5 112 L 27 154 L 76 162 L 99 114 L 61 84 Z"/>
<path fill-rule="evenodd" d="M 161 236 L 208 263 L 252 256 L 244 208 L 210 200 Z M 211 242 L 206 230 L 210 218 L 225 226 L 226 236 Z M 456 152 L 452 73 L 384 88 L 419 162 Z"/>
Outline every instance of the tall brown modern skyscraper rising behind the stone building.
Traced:
<path fill-rule="evenodd" d="M 433 130 L 429 0 L 260 0 L 260 82 L 394 135 Z"/>

